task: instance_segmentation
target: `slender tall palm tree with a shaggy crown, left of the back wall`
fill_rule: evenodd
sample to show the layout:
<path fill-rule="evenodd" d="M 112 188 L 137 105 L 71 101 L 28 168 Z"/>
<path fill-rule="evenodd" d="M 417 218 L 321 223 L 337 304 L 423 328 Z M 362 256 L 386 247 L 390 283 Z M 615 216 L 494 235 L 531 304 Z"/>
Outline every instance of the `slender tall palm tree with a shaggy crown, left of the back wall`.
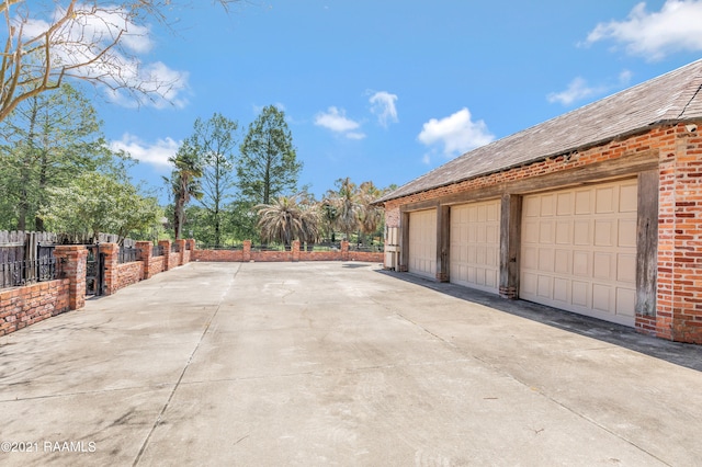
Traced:
<path fill-rule="evenodd" d="M 176 240 L 179 240 L 185 224 L 185 205 L 191 198 L 200 200 L 203 196 L 200 185 L 202 167 L 197 153 L 189 141 L 183 143 L 176 156 L 168 158 L 168 161 L 174 166 L 171 178 L 167 181 L 170 183 L 173 194 L 176 206 L 173 209 L 173 230 Z"/>

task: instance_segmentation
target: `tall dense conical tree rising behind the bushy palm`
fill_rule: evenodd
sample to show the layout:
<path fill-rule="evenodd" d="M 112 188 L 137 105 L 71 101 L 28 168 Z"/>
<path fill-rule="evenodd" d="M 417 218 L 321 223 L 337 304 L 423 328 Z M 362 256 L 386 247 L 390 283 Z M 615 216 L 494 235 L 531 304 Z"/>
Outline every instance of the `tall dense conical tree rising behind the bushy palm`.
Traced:
<path fill-rule="evenodd" d="M 263 107 L 241 144 L 237 163 L 240 195 L 256 205 L 294 193 L 302 167 L 285 114 L 273 105 Z"/>

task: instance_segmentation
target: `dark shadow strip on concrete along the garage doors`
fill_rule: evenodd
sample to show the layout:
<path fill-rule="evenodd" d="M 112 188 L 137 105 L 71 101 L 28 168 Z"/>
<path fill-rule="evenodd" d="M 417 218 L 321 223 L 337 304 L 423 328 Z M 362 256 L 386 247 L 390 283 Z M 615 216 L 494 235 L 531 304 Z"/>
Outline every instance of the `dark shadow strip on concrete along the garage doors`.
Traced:
<path fill-rule="evenodd" d="M 633 328 L 626 326 L 602 321 L 531 301 L 508 300 L 495 294 L 488 294 L 455 284 L 433 282 L 408 273 L 397 273 L 385 270 L 378 270 L 377 272 L 462 300 L 484 305 L 510 315 L 575 332 L 580 335 L 587 335 L 588 338 L 620 345 L 676 365 L 702 372 L 702 345 L 657 339 L 650 335 L 639 334 Z"/>

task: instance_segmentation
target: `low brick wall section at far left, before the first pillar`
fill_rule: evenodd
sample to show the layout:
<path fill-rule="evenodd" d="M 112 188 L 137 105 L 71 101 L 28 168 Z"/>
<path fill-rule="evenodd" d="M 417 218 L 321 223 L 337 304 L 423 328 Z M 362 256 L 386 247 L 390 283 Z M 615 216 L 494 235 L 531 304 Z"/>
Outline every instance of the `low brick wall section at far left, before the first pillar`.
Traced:
<path fill-rule="evenodd" d="M 0 291 L 0 335 L 68 311 L 69 284 L 65 278 Z"/>

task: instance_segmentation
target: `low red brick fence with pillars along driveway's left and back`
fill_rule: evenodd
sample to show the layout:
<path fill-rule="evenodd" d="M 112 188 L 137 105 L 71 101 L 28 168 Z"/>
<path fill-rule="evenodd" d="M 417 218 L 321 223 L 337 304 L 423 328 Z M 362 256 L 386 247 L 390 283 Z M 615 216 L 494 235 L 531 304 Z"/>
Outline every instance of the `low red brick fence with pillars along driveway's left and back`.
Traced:
<path fill-rule="evenodd" d="M 196 250 L 192 239 L 178 240 L 177 243 L 178 251 L 173 252 L 170 240 L 159 241 L 163 255 L 154 257 L 152 243 L 138 241 L 136 261 L 124 264 L 120 264 L 118 244 L 101 243 L 100 253 L 105 258 L 104 295 L 112 295 L 190 261 L 383 261 L 383 253 L 349 251 L 347 241 L 341 242 L 338 251 L 301 251 L 299 241 L 294 241 L 290 251 L 251 251 L 249 240 L 244 242 L 242 250 Z M 88 250 L 80 244 L 57 246 L 54 255 L 59 278 L 0 291 L 0 335 L 84 306 Z"/>

